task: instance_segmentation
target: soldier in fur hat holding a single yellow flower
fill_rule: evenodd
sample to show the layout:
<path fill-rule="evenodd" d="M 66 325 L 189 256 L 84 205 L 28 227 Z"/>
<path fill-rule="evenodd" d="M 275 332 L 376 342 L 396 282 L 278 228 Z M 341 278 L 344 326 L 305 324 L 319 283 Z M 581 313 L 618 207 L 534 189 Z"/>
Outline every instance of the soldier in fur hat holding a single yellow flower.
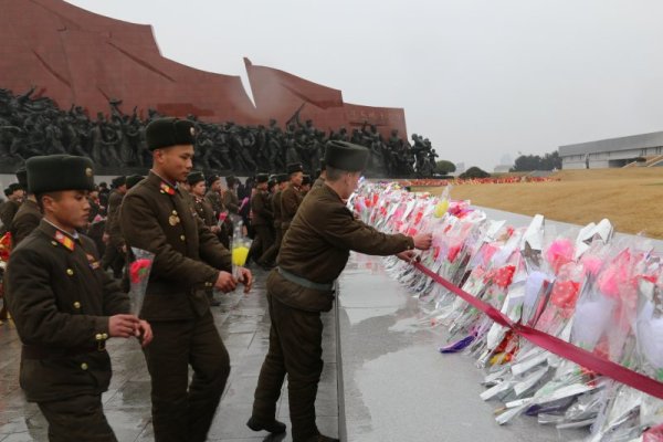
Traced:
<path fill-rule="evenodd" d="M 155 440 L 204 441 L 230 373 L 204 291 L 230 292 L 238 281 L 231 274 L 230 252 L 194 215 L 176 185 L 191 171 L 193 124 L 155 119 L 146 138 L 152 169 L 126 194 L 120 224 L 128 246 L 155 254 L 140 312 L 155 333 L 145 349 Z M 251 272 L 242 269 L 242 280 L 248 291 Z"/>

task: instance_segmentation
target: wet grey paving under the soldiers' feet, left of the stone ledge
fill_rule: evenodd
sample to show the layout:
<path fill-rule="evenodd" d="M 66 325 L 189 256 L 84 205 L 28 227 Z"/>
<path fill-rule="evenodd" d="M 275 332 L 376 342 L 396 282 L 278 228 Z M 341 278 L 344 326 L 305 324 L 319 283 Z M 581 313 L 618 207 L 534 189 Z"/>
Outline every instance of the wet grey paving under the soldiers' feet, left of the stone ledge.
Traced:
<path fill-rule="evenodd" d="M 222 302 L 212 313 L 230 354 L 232 370 L 209 433 L 210 441 L 292 441 L 253 432 L 245 422 L 251 415 L 253 392 L 269 346 L 270 317 L 265 298 L 266 273 L 256 270 L 249 295 L 240 291 L 217 294 Z M 316 401 L 317 424 L 329 435 L 338 435 L 336 376 L 336 318 L 323 314 L 325 368 Z M 33 403 L 25 402 L 18 383 L 20 340 L 11 322 L 0 325 L 0 442 L 48 441 L 46 422 Z M 112 339 L 113 380 L 104 393 L 104 409 L 120 442 L 154 441 L 150 417 L 149 375 L 136 340 Z M 287 382 L 277 407 L 278 419 L 290 429 Z"/>

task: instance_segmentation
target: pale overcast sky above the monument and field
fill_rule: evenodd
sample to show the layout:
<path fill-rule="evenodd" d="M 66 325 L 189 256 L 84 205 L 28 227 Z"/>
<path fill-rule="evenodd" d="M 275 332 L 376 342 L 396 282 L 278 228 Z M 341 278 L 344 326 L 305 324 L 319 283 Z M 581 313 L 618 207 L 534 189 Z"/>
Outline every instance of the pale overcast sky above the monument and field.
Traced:
<path fill-rule="evenodd" d="M 509 155 L 663 130 L 660 0 L 70 0 L 151 24 L 161 53 L 242 57 L 403 107 L 409 134 L 488 171 Z"/>

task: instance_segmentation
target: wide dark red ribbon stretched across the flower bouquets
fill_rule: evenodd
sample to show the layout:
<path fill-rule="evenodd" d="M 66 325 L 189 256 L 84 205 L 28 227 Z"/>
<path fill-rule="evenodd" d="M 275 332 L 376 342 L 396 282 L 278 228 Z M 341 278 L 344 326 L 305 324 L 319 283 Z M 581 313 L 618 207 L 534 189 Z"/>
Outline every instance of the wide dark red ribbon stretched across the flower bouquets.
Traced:
<path fill-rule="evenodd" d="M 451 282 L 441 277 L 436 273 L 433 273 L 430 269 L 423 266 L 421 263 L 414 263 L 414 266 L 420 272 L 430 276 L 438 284 L 452 292 L 454 295 L 463 298 L 463 301 L 472 305 L 474 308 L 485 313 L 495 323 L 512 329 L 514 333 L 524 337 L 530 343 L 550 352 L 554 352 L 555 355 L 561 356 L 565 359 L 573 361 L 585 368 L 596 371 L 597 373 L 607 376 L 617 380 L 618 382 L 624 383 L 650 396 L 663 399 L 663 382 L 659 382 L 657 380 L 648 376 L 630 370 L 611 360 L 598 357 L 592 352 L 583 350 L 580 347 L 576 347 L 566 340 L 561 340 L 555 336 L 550 336 L 546 333 L 537 330 L 536 328 L 514 323 L 508 318 L 508 316 L 495 307 L 477 299 L 462 288 L 453 285 Z"/>

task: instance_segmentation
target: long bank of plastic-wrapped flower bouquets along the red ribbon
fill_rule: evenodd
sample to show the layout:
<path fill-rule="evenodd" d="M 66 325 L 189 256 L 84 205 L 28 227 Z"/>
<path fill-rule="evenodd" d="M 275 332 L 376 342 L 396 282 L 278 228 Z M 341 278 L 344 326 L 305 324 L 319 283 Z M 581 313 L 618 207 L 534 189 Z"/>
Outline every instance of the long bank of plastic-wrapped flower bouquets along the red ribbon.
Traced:
<path fill-rule="evenodd" d="M 613 238 L 608 220 L 557 232 L 543 215 L 527 228 L 491 220 L 469 201 L 365 182 L 348 207 L 386 233 L 432 233 L 421 265 L 520 324 L 663 381 L 663 272 L 644 238 Z M 442 354 L 485 370 L 482 399 L 496 421 L 520 414 L 588 441 L 663 440 L 663 400 L 557 356 L 494 323 L 413 265 L 386 257 L 418 297 L 420 327 L 448 327 Z M 564 434 L 564 433 L 562 433 Z"/>

